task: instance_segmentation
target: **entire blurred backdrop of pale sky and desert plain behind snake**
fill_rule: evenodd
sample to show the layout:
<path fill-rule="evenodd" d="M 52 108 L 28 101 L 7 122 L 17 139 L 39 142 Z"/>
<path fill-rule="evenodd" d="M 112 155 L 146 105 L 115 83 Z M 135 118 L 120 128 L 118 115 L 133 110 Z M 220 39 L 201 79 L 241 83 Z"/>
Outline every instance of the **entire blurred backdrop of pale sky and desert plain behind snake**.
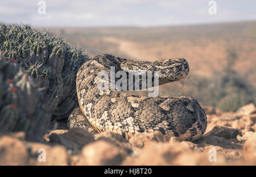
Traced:
<path fill-rule="evenodd" d="M 236 111 L 256 103 L 256 1 L 0 1 L 0 20 L 30 23 L 91 56 L 188 60 L 190 75 L 159 95 L 189 95 Z"/>

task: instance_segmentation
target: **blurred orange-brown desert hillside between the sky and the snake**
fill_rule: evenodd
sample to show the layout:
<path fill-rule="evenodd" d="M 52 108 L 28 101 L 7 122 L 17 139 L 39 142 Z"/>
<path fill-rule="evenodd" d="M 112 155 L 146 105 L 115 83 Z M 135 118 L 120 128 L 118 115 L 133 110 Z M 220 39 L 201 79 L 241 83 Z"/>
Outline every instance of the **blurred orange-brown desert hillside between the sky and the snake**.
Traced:
<path fill-rule="evenodd" d="M 64 36 L 70 43 L 81 45 L 93 55 L 110 53 L 133 60 L 154 61 L 172 57 L 183 57 L 188 60 L 191 69 L 189 78 L 184 79 L 183 82 L 163 86 L 164 89 L 160 92 L 162 95 L 192 94 L 200 97 L 199 89 L 192 89 L 191 85 L 197 84 L 195 88 L 198 88 L 197 80 L 200 78 L 207 78 L 210 82 L 217 82 L 216 79 L 220 80 L 218 82 L 224 82 L 220 78 L 224 76 L 219 74 L 224 74 L 230 69 L 237 72 L 242 80 L 246 80 L 246 84 L 256 87 L 256 21 L 154 28 L 50 30 Z M 168 89 L 165 89 L 166 87 Z M 188 90 L 182 89 L 178 92 L 177 88 Z M 209 88 L 205 89 L 207 95 Z M 174 91 L 171 92 L 172 90 Z M 195 92 L 193 93 L 192 90 Z M 225 95 L 221 94 L 218 95 L 219 98 Z M 210 99 L 208 95 L 204 99 L 201 97 L 198 99 L 204 104 L 218 102 L 218 100 L 216 103 L 207 102 L 207 99 Z"/>

